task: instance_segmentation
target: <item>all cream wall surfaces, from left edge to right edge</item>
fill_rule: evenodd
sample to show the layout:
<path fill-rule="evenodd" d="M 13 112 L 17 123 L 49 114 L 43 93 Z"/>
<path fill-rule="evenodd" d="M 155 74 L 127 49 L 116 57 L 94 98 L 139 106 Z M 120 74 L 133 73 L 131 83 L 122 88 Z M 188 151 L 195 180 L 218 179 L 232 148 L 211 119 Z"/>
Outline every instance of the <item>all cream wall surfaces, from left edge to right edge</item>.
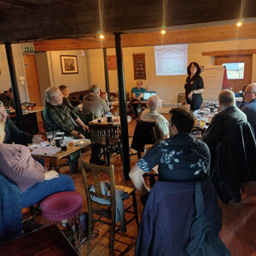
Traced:
<path fill-rule="evenodd" d="M 24 70 L 24 63 L 22 58 L 21 44 L 13 44 L 15 55 L 15 70 L 17 79 L 20 76 L 26 76 Z M 203 56 L 202 52 L 215 50 L 230 50 L 230 49 L 255 49 L 256 39 L 244 40 L 230 40 L 219 41 L 212 43 L 189 44 L 188 48 L 188 63 L 196 61 L 200 65 L 212 66 L 214 64 L 214 57 Z M 90 84 L 98 84 L 102 90 L 105 90 L 105 74 L 102 49 L 88 49 L 83 50 L 84 55 L 81 55 L 81 50 L 65 50 L 65 51 L 51 51 L 47 53 L 37 53 L 37 65 L 39 83 L 44 89 L 49 85 L 58 86 L 60 84 L 67 84 L 70 91 L 86 90 Z M 161 94 L 171 95 L 172 102 L 165 102 L 165 104 L 175 104 L 177 101 L 177 91 L 183 91 L 183 84 L 186 76 L 156 76 L 154 67 L 154 47 L 135 47 L 123 49 L 124 61 L 124 77 L 125 90 L 130 93 L 131 89 L 136 85 L 133 73 L 133 58 L 134 53 L 145 53 L 146 61 L 146 77 L 143 81 L 145 88 L 159 88 Z M 43 55 L 42 55 L 43 54 Z M 115 55 L 115 49 L 107 49 L 108 55 Z M 38 57 L 39 55 L 39 57 Z M 77 74 L 62 74 L 60 55 L 77 55 L 79 73 Z M 46 59 L 45 59 L 46 58 Z M 9 67 L 7 64 L 4 45 L 0 45 L 0 91 L 7 90 L 11 86 L 9 79 Z M 43 70 L 43 72 L 41 71 Z M 110 91 L 118 91 L 117 72 L 109 71 L 109 89 Z M 253 55 L 253 77 L 252 82 L 256 82 L 256 55 Z M 29 101 L 26 83 L 20 84 L 18 80 L 18 87 L 20 90 L 20 101 Z M 41 94 L 44 95 L 44 92 Z M 169 101 L 169 100 L 168 100 Z M 44 98 L 42 98 L 44 102 Z"/>

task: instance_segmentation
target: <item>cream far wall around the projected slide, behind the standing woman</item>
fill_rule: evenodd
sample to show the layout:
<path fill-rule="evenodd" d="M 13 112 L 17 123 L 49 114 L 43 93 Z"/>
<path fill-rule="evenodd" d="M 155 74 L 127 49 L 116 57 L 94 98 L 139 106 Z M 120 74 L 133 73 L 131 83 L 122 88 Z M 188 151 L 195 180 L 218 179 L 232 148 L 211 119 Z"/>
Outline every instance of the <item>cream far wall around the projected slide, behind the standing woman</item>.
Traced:
<path fill-rule="evenodd" d="M 219 41 L 212 43 L 189 44 L 188 48 L 188 63 L 196 61 L 200 65 L 214 65 L 214 57 L 204 56 L 202 52 L 216 50 L 231 50 L 231 49 L 255 49 L 256 39 Z M 115 49 L 108 49 L 108 55 L 115 55 Z M 159 89 L 161 97 L 168 94 L 168 101 L 164 104 L 177 103 L 177 92 L 183 92 L 183 84 L 186 76 L 156 76 L 154 67 L 154 47 L 134 47 L 123 48 L 123 61 L 125 73 L 125 90 L 129 91 L 136 85 L 133 73 L 133 53 L 145 53 L 146 61 L 146 80 L 143 81 L 143 86 L 149 90 Z M 109 87 L 110 91 L 118 90 L 118 79 L 116 71 L 109 71 Z M 104 88 L 104 66 L 102 49 L 90 50 L 90 75 L 93 83 L 99 84 Z M 253 55 L 253 77 L 252 82 L 256 81 L 256 55 Z"/>

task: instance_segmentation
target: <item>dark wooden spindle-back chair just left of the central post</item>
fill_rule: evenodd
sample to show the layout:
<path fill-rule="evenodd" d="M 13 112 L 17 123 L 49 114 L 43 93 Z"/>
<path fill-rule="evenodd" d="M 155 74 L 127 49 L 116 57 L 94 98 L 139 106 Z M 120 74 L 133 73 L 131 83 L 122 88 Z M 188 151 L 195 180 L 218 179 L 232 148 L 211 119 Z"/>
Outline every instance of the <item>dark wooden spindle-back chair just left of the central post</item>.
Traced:
<path fill-rule="evenodd" d="M 90 142 L 95 144 L 96 147 L 102 148 L 102 154 L 107 159 L 108 166 L 110 165 L 110 157 L 113 153 L 120 154 L 122 157 L 119 127 L 111 123 L 103 125 L 90 122 L 89 131 Z"/>

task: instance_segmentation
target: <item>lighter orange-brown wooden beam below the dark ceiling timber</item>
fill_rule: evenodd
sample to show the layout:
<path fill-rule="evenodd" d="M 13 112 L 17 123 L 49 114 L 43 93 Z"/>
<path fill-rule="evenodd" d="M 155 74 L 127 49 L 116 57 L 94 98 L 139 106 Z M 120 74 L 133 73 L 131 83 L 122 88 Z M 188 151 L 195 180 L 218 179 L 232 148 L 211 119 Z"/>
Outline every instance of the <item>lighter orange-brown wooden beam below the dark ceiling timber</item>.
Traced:
<path fill-rule="evenodd" d="M 192 44 L 230 39 L 256 38 L 256 23 L 246 23 L 241 27 L 227 25 L 173 30 L 166 32 L 165 35 L 160 34 L 160 32 L 122 34 L 121 38 L 123 47 Z M 114 37 L 113 35 L 108 35 L 104 40 L 98 38 L 56 39 L 38 41 L 34 44 L 36 51 L 114 48 Z"/>

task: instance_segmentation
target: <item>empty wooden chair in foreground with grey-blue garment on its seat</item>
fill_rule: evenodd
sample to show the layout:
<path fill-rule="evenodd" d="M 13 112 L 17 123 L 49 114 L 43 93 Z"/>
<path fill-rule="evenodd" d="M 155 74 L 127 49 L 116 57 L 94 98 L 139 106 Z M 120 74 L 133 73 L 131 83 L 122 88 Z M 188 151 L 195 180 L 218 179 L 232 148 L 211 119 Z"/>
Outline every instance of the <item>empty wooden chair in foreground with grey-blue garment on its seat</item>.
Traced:
<path fill-rule="evenodd" d="M 87 197 L 88 212 L 89 212 L 89 228 L 88 228 L 88 240 L 91 239 L 92 230 L 96 222 L 102 224 L 108 224 L 111 227 L 110 230 L 110 249 L 113 250 L 114 236 L 117 231 L 120 230 L 120 225 L 116 223 L 116 189 L 122 189 L 130 196 L 132 196 L 132 203 L 128 207 L 124 207 L 124 212 L 129 214 L 129 220 L 125 221 L 125 224 L 129 224 L 133 219 L 136 220 L 138 226 L 137 217 L 137 201 L 135 190 L 133 188 L 115 185 L 114 181 L 114 169 L 111 166 L 96 166 L 92 164 L 85 163 L 83 160 L 80 161 L 80 166 L 82 167 L 82 176 L 84 180 L 84 189 Z M 94 186 L 94 191 L 91 189 L 89 184 L 89 178 L 87 176 L 92 175 L 92 184 Z M 109 179 L 110 189 L 109 194 L 106 194 L 102 190 L 102 181 Z M 97 199 L 97 200 L 96 200 Z M 101 200 L 100 203 L 98 200 Z M 124 201 L 124 200 L 123 200 Z M 133 211 L 131 209 L 133 207 Z M 125 214 L 125 215 L 128 215 Z M 96 216 L 96 218 L 95 218 Z M 121 223 L 120 223 L 121 224 Z"/>

